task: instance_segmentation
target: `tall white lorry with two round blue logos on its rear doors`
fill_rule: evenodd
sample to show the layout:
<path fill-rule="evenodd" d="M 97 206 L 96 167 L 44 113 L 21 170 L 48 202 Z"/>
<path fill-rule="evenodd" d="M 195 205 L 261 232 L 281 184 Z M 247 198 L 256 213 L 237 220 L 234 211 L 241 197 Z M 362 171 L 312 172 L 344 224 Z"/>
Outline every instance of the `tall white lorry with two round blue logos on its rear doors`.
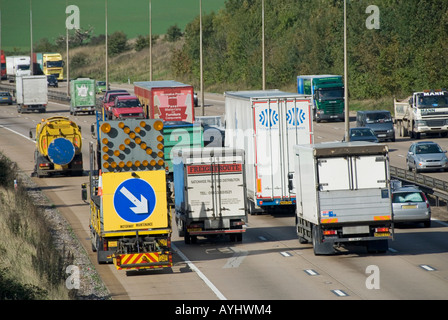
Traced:
<path fill-rule="evenodd" d="M 225 146 L 245 150 L 250 214 L 294 210 L 293 146 L 311 144 L 311 96 L 279 90 L 225 93 Z"/>

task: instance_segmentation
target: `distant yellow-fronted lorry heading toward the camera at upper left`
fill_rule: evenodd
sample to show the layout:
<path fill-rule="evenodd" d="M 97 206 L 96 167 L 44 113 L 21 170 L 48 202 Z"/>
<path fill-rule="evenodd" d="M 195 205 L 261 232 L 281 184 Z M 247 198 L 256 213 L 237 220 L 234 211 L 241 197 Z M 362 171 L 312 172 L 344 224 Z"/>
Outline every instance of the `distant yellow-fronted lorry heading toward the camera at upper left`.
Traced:
<path fill-rule="evenodd" d="M 33 72 L 36 75 L 55 75 L 58 81 L 64 80 L 64 61 L 57 52 L 33 53 Z"/>

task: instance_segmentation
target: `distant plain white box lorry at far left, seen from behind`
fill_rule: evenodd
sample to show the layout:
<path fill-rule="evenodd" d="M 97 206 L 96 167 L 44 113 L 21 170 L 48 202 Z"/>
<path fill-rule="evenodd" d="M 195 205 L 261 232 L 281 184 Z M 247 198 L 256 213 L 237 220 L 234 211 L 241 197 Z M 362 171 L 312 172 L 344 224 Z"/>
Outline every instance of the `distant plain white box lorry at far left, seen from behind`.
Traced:
<path fill-rule="evenodd" d="M 47 76 L 22 76 L 16 80 L 17 112 L 45 112 L 48 104 Z"/>

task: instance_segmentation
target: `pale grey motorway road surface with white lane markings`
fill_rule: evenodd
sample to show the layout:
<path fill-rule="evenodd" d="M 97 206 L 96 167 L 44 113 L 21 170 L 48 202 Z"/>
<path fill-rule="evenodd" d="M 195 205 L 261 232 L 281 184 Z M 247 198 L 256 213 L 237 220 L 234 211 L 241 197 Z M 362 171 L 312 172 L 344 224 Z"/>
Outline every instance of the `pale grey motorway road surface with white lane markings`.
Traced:
<path fill-rule="evenodd" d="M 64 84 L 64 83 L 62 83 Z M 61 86 L 63 90 L 63 86 Z M 130 88 L 131 86 L 128 86 Z M 205 114 L 224 112 L 222 95 L 206 95 Z M 34 166 L 34 141 L 28 138 L 42 117 L 69 116 L 68 106 L 49 103 L 46 114 L 18 114 L 15 105 L 0 106 L 0 151 L 27 174 Z M 196 108 L 201 115 L 201 108 Z M 91 115 L 70 116 L 83 132 L 84 169 L 92 141 Z M 351 123 L 354 126 L 353 122 Z M 316 143 L 341 140 L 344 123 L 314 123 Z M 434 138 L 448 149 L 448 139 Z M 389 143 L 391 165 L 404 168 L 408 138 Z M 448 180 L 448 173 L 433 173 Z M 145 272 L 118 271 L 98 265 L 89 239 L 89 206 L 81 200 L 82 177 L 33 178 L 89 253 L 103 282 L 117 300 L 425 300 L 448 297 L 448 214 L 441 212 L 429 229 L 420 225 L 397 227 L 385 254 L 364 248 L 340 248 L 333 256 L 314 256 L 311 244 L 300 244 L 291 213 L 250 216 L 242 243 L 226 238 L 199 239 L 186 245 L 173 232 L 175 251 L 171 269 Z M 371 273 L 373 270 L 373 273 Z M 373 278 L 375 276 L 375 278 Z M 373 280 L 372 280 L 373 279 Z M 375 284 L 373 286 L 372 284 Z M 179 302 L 181 305 L 181 302 Z"/>

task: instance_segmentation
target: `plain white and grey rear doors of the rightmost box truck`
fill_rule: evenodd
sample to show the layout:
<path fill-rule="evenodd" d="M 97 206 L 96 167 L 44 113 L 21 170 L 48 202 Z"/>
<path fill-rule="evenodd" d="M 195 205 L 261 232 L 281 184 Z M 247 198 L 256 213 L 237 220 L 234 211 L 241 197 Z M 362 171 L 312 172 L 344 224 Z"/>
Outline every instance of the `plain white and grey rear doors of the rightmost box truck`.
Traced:
<path fill-rule="evenodd" d="M 387 160 L 383 156 L 319 159 L 321 222 L 391 220 L 387 176 Z"/>

